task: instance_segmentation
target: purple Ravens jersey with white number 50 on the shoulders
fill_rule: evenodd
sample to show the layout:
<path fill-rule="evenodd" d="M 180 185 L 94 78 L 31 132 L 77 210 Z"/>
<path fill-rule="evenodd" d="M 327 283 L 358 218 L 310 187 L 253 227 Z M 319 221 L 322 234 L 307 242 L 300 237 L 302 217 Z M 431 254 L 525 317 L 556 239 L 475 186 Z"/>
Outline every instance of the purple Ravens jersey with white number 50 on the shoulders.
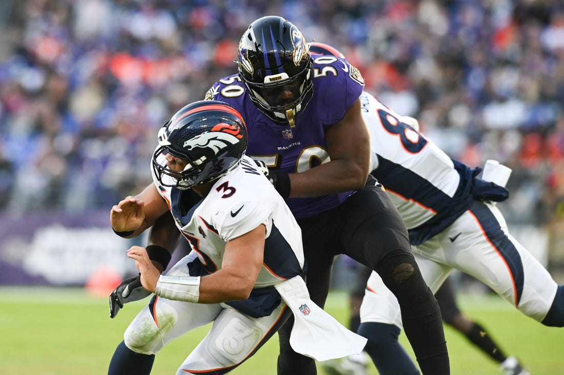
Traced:
<path fill-rule="evenodd" d="M 314 94 L 296 118 L 295 127 L 275 123 L 259 111 L 237 74 L 222 78 L 206 94 L 206 99 L 226 102 L 243 115 L 249 133 L 246 154 L 264 161 L 274 173 L 301 173 L 328 162 L 325 131 L 340 121 L 362 94 L 364 80 L 346 60 L 313 58 Z M 286 202 L 296 218 L 306 218 L 340 205 L 351 193 L 288 198 Z"/>

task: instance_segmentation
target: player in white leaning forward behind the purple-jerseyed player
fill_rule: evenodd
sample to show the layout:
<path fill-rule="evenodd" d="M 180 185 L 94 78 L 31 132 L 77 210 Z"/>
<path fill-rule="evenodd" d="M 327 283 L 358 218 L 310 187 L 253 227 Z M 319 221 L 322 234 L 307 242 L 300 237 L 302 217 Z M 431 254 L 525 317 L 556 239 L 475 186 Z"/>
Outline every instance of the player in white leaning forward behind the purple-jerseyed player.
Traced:
<path fill-rule="evenodd" d="M 327 54 L 323 46 L 316 48 L 315 44 L 310 46 L 312 53 Z M 481 280 L 541 324 L 564 327 L 564 286 L 509 234 L 495 206 L 508 197 L 505 188 L 478 178 L 481 168 L 470 169 L 452 160 L 414 129 L 411 118 L 399 116 L 367 92 L 361 100 L 371 134 L 371 174 L 402 214 L 413 253 L 418 255 L 417 263 L 431 290 L 437 292 L 456 268 Z M 401 327 L 399 306 L 390 308 L 395 298 L 386 289 L 380 276 L 372 272 L 359 328 L 368 338 L 369 354 L 371 347 L 385 339 L 372 332 L 371 323 Z M 399 374 L 397 368 L 390 373 Z"/>

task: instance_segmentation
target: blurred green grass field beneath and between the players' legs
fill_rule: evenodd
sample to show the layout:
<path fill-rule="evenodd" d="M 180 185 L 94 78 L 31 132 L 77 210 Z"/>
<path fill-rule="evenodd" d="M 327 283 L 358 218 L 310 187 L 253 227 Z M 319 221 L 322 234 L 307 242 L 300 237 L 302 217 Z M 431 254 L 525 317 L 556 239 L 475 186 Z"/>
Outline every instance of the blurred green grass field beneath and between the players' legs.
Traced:
<path fill-rule="evenodd" d="M 100 375 L 122 334 L 146 301 L 126 305 L 110 319 L 107 298 L 81 289 L 0 288 L 0 375 Z M 148 299 L 147 299 L 148 301 Z M 548 328 L 521 315 L 497 296 L 460 295 L 466 315 L 490 329 L 506 352 L 520 358 L 532 375 L 564 375 L 564 329 Z M 346 321 L 347 297 L 332 292 L 327 310 Z M 153 374 L 172 375 L 206 332 L 195 330 L 157 355 Z M 497 364 L 446 328 L 453 375 L 498 375 Z M 402 342 L 407 340 L 402 334 Z M 272 338 L 235 375 L 276 373 L 277 337 Z M 319 368 L 320 375 L 324 375 Z M 371 375 L 377 371 L 372 366 Z M 299 374 L 296 374 L 299 375 Z"/>

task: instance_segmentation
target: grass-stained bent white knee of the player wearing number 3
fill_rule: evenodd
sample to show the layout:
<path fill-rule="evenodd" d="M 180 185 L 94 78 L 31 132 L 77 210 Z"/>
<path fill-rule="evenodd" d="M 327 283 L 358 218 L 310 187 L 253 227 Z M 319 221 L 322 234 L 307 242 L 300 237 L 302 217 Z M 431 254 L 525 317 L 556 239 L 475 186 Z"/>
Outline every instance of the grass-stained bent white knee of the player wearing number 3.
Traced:
<path fill-rule="evenodd" d="M 124 333 L 125 345 L 136 353 L 157 354 L 164 345 L 162 339 L 176 325 L 178 315 L 172 308 L 161 309 L 157 319 L 151 314 L 139 314 Z M 156 321 L 155 321 L 156 320 Z M 158 322 L 158 324 L 157 324 Z"/>

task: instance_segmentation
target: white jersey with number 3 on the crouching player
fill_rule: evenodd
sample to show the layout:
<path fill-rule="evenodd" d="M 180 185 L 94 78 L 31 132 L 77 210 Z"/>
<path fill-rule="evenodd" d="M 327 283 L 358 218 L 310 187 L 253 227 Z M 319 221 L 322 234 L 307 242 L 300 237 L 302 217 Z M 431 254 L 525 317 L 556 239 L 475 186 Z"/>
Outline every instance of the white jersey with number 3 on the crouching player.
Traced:
<path fill-rule="evenodd" d="M 161 159 L 164 162 L 164 156 Z M 284 200 L 250 157 L 245 156 L 235 170 L 219 178 L 208 195 L 187 212 L 182 210 L 183 191 L 162 187 L 154 174 L 153 181 L 206 271 L 221 268 L 227 241 L 264 224 L 265 262 L 255 288 L 274 285 L 301 273 L 301 230 Z"/>

